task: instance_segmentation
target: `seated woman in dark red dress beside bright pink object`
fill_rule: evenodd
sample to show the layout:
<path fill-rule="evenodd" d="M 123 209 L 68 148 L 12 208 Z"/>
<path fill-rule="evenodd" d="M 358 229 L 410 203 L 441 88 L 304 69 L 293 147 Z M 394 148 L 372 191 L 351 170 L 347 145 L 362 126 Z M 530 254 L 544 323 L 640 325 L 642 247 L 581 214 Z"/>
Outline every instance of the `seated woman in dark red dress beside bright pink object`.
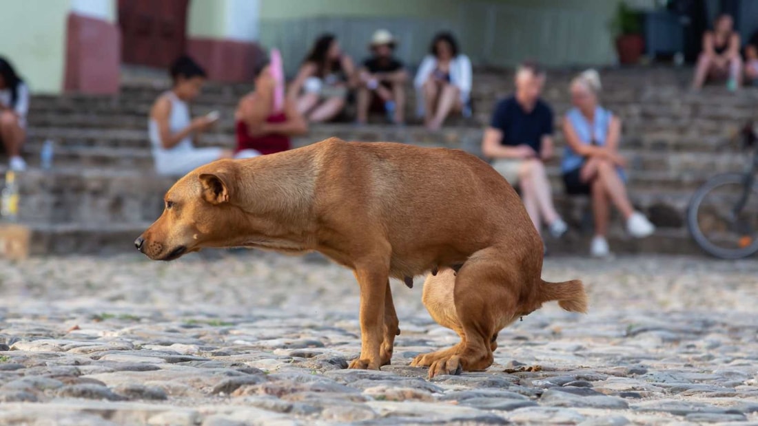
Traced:
<path fill-rule="evenodd" d="M 237 106 L 234 119 L 238 153 L 245 150 L 260 154 L 287 151 L 290 136 L 308 132 L 308 124 L 295 102 L 283 97 L 283 81 L 277 82 L 274 78 L 282 75 L 280 67 L 279 54 L 274 51 L 271 64 L 263 62 L 255 70 L 255 90 L 245 95 Z"/>

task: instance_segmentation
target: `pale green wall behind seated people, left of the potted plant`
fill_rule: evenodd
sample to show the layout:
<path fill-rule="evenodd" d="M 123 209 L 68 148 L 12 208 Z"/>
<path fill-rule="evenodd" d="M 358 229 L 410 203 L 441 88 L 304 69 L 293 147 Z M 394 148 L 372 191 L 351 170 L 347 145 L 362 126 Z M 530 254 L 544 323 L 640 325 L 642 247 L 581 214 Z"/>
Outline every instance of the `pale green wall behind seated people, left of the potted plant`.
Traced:
<path fill-rule="evenodd" d="M 628 0 L 650 7 L 653 0 Z M 365 56 L 378 27 L 400 38 L 397 53 L 418 64 L 438 30 L 453 30 L 475 64 L 512 66 L 526 58 L 550 66 L 614 64 L 609 31 L 619 0 L 261 0 L 259 41 L 282 49 L 287 70 L 319 33 Z"/>

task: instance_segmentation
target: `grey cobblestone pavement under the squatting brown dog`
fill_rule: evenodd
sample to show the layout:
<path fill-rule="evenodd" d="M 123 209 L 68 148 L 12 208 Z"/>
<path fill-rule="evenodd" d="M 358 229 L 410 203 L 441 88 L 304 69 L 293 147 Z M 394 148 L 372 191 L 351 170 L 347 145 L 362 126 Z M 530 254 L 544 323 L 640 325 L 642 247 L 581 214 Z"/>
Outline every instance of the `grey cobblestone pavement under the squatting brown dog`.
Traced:
<path fill-rule="evenodd" d="M 0 261 L 0 424 L 758 424 L 758 262 L 549 258 L 582 278 L 500 333 L 487 372 L 409 362 L 456 343 L 393 284 L 393 365 L 359 353 L 358 286 L 317 256 Z"/>

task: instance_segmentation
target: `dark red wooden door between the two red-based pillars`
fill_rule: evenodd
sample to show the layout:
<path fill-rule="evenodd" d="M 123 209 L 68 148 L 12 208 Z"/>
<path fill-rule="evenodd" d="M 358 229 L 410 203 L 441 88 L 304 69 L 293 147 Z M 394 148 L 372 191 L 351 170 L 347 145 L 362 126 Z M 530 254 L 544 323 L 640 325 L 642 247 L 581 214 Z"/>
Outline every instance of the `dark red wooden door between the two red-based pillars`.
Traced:
<path fill-rule="evenodd" d="M 185 51 L 189 0 L 118 0 L 124 64 L 165 68 Z"/>

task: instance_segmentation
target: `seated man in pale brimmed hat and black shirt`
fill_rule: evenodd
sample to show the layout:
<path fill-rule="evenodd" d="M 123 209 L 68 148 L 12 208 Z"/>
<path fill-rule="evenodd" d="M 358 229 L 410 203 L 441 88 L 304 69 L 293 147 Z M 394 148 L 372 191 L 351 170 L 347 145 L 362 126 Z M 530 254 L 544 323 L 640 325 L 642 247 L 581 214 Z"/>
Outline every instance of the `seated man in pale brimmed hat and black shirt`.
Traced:
<path fill-rule="evenodd" d="M 408 74 L 402 62 L 394 58 L 396 41 L 387 30 L 377 30 L 371 37 L 371 58 L 359 70 L 358 123 L 365 124 L 368 110 L 387 113 L 392 123 L 402 124 L 406 105 L 404 87 Z"/>

